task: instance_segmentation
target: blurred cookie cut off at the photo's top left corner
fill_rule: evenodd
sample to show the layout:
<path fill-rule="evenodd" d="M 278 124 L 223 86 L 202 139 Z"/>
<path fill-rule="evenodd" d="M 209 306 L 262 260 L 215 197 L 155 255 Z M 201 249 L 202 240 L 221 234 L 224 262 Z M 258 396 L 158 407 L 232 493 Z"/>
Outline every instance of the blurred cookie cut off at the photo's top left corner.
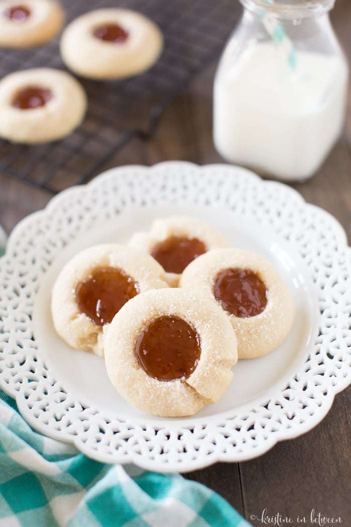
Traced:
<path fill-rule="evenodd" d="M 55 0 L 0 0 L 0 46 L 44 44 L 57 35 L 64 19 Z"/>

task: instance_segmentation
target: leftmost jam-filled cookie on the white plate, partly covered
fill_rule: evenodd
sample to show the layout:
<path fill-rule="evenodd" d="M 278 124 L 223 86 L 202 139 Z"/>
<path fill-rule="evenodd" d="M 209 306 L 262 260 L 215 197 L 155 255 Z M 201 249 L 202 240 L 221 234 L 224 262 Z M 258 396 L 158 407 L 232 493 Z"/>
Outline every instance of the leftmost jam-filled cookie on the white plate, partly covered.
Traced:
<path fill-rule="evenodd" d="M 163 269 L 135 249 L 106 243 L 89 247 L 58 275 L 51 301 L 54 326 L 75 349 L 104 355 L 104 333 L 125 302 L 167 287 Z"/>

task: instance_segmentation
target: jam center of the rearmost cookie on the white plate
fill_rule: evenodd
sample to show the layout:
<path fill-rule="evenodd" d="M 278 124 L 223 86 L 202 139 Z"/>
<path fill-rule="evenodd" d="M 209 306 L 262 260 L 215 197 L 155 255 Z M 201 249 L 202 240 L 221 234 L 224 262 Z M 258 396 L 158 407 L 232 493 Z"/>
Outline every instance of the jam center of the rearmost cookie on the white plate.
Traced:
<path fill-rule="evenodd" d="M 197 238 L 171 236 L 157 243 L 151 256 L 162 265 L 166 272 L 180 273 L 206 250 L 205 244 Z"/>

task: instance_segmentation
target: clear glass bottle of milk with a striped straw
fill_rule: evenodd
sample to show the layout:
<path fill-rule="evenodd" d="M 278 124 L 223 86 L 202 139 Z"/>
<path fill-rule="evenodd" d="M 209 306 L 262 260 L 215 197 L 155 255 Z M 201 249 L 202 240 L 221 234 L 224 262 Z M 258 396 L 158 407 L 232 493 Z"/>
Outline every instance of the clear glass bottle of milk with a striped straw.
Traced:
<path fill-rule="evenodd" d="M 306 180 L 343 128 L 348 66 L 334 0 L 240 0 L 214 84 L 214 142 L 227 160 Z"/>

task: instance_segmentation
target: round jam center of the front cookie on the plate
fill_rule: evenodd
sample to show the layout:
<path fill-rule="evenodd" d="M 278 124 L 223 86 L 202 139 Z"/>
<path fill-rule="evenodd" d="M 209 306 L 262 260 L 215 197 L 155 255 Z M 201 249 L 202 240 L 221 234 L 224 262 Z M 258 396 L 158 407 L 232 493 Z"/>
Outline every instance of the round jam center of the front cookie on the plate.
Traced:
<path fill-rule="evenodd" d="M 166 315 L 153 320 L 135 345 L 139 365 L 158 380 L 187 379 L 194 372 L 200 354 L 196 331 L 184 320 Z"/>

